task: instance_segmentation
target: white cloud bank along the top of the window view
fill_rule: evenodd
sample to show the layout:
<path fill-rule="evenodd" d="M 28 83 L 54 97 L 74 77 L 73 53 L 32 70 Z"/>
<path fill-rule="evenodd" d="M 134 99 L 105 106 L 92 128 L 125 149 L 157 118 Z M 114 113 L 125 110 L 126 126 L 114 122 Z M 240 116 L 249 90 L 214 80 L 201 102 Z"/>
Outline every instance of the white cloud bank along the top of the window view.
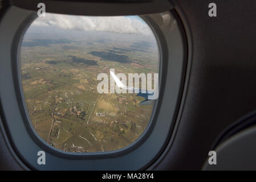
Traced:
<path fill-rule="evenodd" d="M 109 31 L 129 34 L 152 34 L 151 28 L 139 18 L 129 16 L 75 16 L 47 13 L 37 18 L 31 26 L 59 27 L 80 31 Z"/>

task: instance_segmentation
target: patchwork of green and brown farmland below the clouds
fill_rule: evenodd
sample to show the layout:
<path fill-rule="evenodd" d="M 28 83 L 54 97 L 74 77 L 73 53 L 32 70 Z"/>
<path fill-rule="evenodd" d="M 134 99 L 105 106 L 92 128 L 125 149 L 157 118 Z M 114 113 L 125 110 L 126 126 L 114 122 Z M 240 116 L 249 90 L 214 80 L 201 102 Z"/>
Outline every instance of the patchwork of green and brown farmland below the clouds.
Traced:
<path fill-rule="evenodd" d="M 71 152 L 112 151 L 134 142 L 148 126 L 153 105 L 139 105 L 143 98 L 136 94 L 99 94 L 96 78 L 109 76 L 111 68 L 127 75 L 157 73 L 156 43 L 121 35 L 104 42 L 38 36 L 23 39 L 21 72 L 27 110 L 40 137 Z"/>

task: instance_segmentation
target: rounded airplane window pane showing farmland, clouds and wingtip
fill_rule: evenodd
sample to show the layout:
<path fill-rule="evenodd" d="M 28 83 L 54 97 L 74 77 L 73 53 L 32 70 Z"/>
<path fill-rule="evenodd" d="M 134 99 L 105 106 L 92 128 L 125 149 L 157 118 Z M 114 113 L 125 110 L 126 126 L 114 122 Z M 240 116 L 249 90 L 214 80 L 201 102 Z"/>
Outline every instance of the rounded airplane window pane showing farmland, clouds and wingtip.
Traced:
<path fill-rule="evenodd" d="M 159 49 L 140 16 L 47 13 L 21 44 L 21 76 L 35 131 L 68 152 L 128 146 L 150 123 Z"/>

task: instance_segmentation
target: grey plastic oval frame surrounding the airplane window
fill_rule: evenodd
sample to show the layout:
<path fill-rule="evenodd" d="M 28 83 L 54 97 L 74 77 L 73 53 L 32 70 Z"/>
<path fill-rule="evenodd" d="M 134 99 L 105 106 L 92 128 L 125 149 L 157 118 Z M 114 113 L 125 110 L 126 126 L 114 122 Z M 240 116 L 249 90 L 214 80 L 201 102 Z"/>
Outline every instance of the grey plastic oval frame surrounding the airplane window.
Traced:
<path fill-rule="evenodd" d="M 14 15 L 17 15 L 16 19 L 13 19 Z M 46 144 L 35 133 L 33 126 L 31 129 L 32 123 L 29 121 L 21 84 L 19 48 L 23 35 L 35 19 L 36 13 L 15 6 L 7 9 L 0 24 L 0 40 L 6 43 L 6 47 L 0 48 L 3 57 L 0 63 L 1 113 L 4 115 L 3 125 L 9 135 L 11 146 L 27 166 L 38 170 L 137 170 L 145 169 L 159 156 L 169 140 L 181 100 L 186 65 L 186 42 L 181 22 L 176 15 L 172 13 L 177 26 L 172 30 L 171 35 L 168 34 L 168 30 L 161 30 L 161 25 L 158 24 L 160 22 L 154 20 L 157 19 L 154 17 L 157 15 L 159 14 L 142 16 L 155 32 L 160 50 L 160 93 L 148 130 L 137 139 L 137 142 L 120 150 L 80 154 L 64 152 Z M 169 38 L 177 39 L 178 44 L 166 42 Z M 166 85 L 166 81 L 171 84 Z M 2 89 L 2 86 L 5 88 Z M 169 93 L 170 90 L 172 93 Z M 6 105 L 8 107 L 3 107 Z M 37 152 L 40 150 L 46 152 L 46 165 L 37 164 Z"/>

